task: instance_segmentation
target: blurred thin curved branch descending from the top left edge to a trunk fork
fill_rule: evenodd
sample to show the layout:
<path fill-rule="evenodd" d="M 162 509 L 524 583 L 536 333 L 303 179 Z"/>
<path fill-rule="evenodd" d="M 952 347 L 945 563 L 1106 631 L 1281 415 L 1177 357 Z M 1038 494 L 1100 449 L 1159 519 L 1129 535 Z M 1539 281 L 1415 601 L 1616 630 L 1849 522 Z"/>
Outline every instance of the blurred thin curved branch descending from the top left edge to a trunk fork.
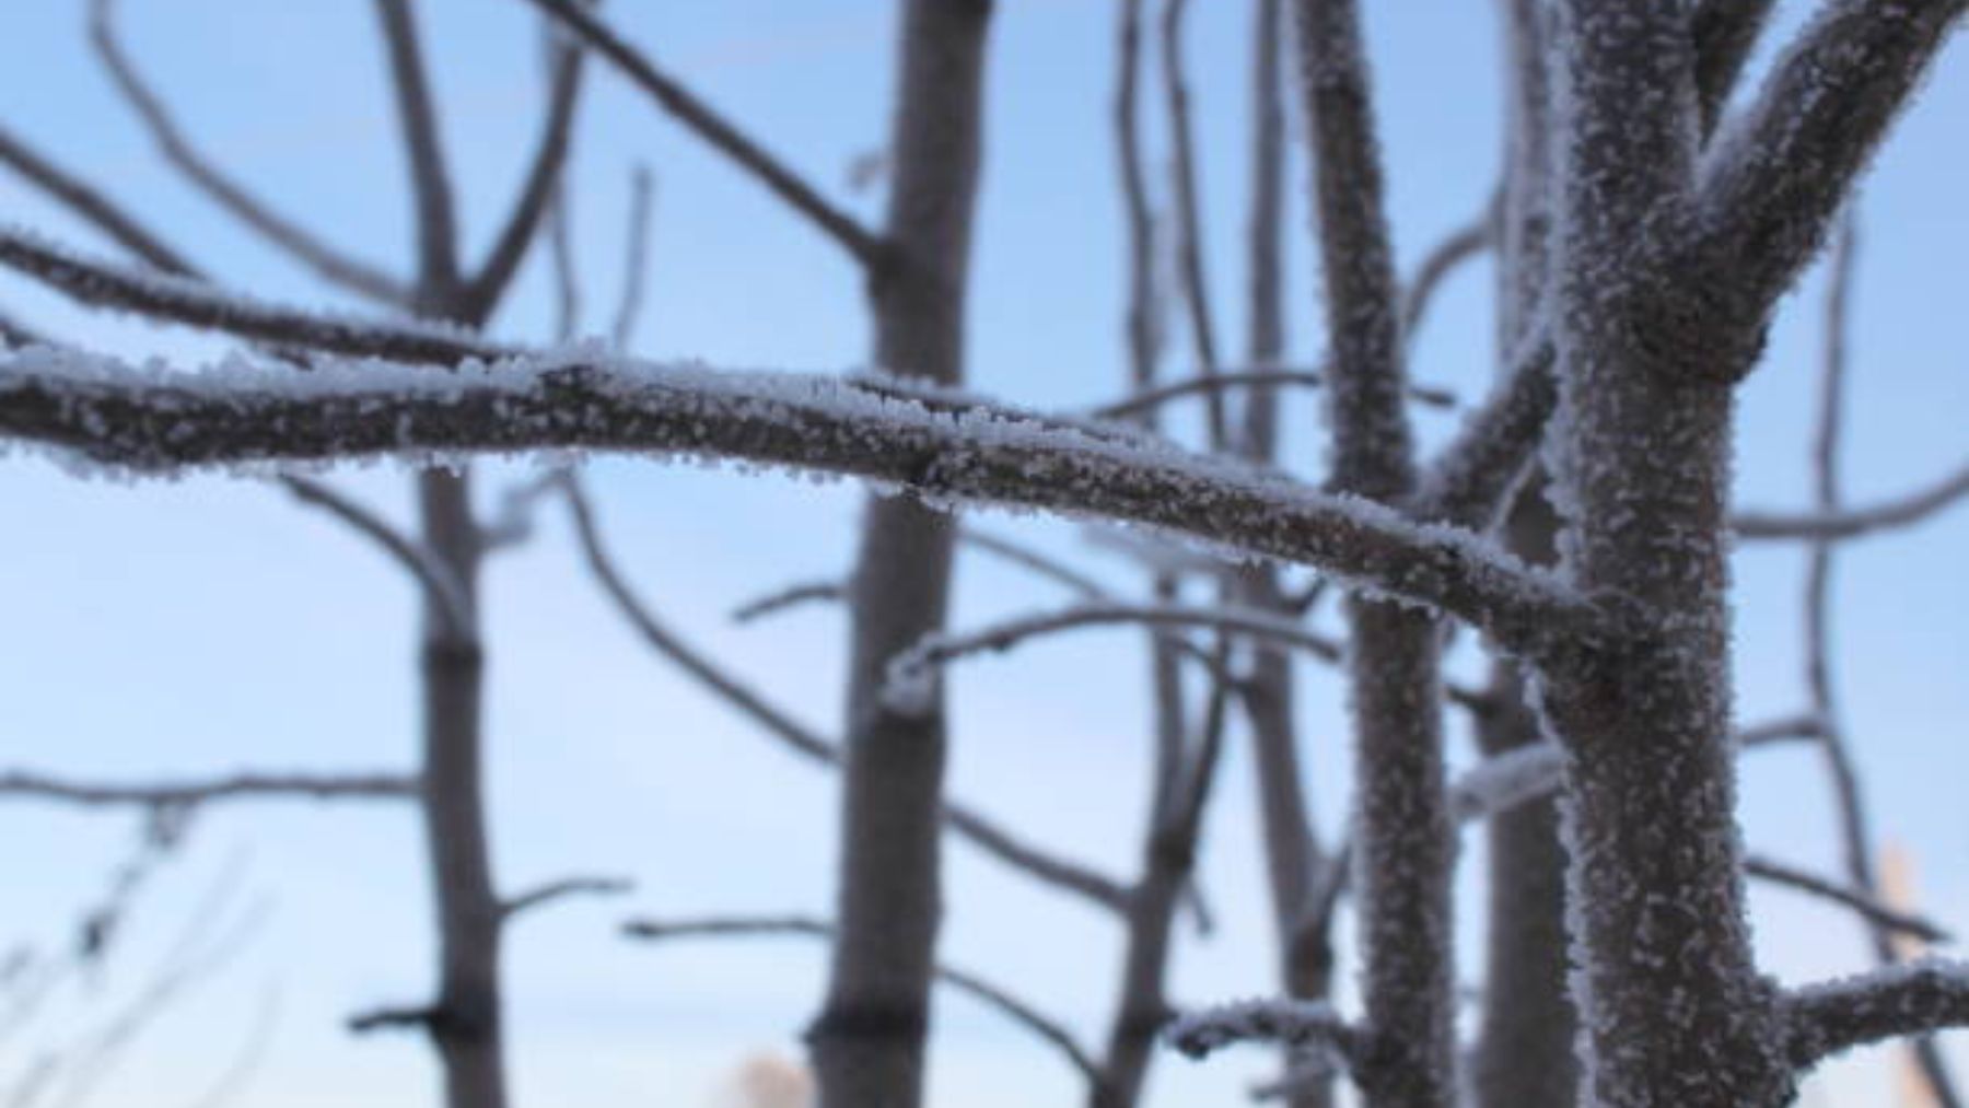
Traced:
<path fill-rule="evenodd" d="M 280 246 L 289 258 L 313 270 L 321 279 L 341 285 L 368 299 L 404 305 L 408 289 L 382 270 L 349 258 L 325 240 L 315 238 L 289 218 L 274 213 L 266 203 L 246 191 L 244 185 L 222 173 L 201 154 L 185 132 L 177 126 L 171 110 L 138 75 L 136 65 L 124 55 L 116 41 L 116 0 L 91 0 L 89 37 L 96 47 L 96 57 L 108 69 L 116 89 L 124 94 L 138 118 L 150 130 L 165 161 L 185 175 L 199 191 L 211 197 L 221 209 L 246 226 L 260 232 L 268 242 Z M 165 266 L 169 270 L 169 266 Z"/>

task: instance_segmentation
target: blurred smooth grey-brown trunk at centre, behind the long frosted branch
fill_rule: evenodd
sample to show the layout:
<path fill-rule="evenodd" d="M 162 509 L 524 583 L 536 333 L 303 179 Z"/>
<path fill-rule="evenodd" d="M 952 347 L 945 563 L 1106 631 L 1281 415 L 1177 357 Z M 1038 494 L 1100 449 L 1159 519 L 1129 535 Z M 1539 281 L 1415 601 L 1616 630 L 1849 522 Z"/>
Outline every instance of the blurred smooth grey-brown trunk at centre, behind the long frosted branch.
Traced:
<path fill-rule="evenodd" d="M 888 256 L 870 274 L 876 364 L 963 380 L 965 279 L 990 0 L 912 0 L 902 16 Z M 882 699 L 888 661 L 943 626 L 951 518 L 906 496 L 866 506 L 855 565 L 841 892 L 827 1004 L 807 1031 L 825 1108 L 921 1100 L 939 917 L 941 695 Z"/>

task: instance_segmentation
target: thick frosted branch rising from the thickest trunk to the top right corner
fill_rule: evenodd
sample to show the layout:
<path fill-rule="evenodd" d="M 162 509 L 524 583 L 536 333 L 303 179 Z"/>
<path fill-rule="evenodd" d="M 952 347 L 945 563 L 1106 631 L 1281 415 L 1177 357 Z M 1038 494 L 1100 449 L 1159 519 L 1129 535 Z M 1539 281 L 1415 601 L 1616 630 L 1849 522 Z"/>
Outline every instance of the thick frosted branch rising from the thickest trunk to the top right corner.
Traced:
<path fill-rule="evenodd" d="M 1701 258 L 1766 311 L 1825 240 L 1965 0 L 1829 0 L 1701 167 Z"/>

